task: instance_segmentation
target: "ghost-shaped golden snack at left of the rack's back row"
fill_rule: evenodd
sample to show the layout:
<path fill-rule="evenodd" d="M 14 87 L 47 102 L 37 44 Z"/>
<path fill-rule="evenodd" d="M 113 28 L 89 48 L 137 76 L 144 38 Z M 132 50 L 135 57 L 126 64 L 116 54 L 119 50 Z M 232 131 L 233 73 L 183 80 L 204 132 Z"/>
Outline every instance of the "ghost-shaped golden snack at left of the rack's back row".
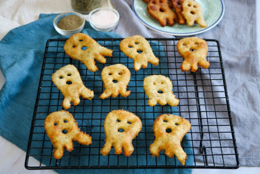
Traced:
<path fill-rule="evenodd" d="M 112 56 L 113 52 L 84 33 L 72 35 L 64 44 L 64 50 L 68 56 L 81 61 L 92 72 L 99 70 L 95 65 L 95 59 L 104 64 L 104 56 Z"/>

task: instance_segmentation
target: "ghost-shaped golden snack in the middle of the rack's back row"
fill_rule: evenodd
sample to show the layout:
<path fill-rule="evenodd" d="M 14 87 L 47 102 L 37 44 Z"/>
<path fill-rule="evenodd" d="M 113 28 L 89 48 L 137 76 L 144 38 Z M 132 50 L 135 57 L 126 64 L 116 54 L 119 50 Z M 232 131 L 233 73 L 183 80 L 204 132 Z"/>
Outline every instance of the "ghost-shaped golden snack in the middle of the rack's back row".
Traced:
<path fill-rule="evenodd" d="M 134 60 L 134 68 L 138 71 L 147 67 L 148 63 L 159 64 L 159 59 L 154 55 L 151 45 L 142 36 L 135 35 L 120 42 L 120 50 Z"/>

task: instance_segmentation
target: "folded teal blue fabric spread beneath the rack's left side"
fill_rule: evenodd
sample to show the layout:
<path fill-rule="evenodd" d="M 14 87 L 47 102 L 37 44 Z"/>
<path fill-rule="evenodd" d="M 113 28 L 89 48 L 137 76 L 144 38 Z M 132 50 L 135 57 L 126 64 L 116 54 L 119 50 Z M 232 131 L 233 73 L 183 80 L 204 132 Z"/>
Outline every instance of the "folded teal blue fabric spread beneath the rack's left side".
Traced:
<path fill-rule="evenodd" d="M 42 59 L 49 39 L 61 36 L 53 27 L 57 14 L 41 14 L 38 21 L 11 30 L 0 41 L 0 69 L 6 82 L 0 90 L 0 135 L 27 150 L 28 138 L 35 107 Z M 86 22 L 82 31 L 92 38 L 120 38 L 113 32 L 99 32 Z M 130 84 L 129 84 L 130 85 Z M 186 138 L 186 137 L 185 137 Z M 189 141 L 185 141 L 190 147 Z M 187 148 L 187 154 L 192 148 Z M 42 161 L 44 163 L 44 161 Z M 193 165 L 193 157 L 186 160 Z M 191 169 L 128 169 L 128 170 L 57 170 L 59 173 L 191 173 Z"/>

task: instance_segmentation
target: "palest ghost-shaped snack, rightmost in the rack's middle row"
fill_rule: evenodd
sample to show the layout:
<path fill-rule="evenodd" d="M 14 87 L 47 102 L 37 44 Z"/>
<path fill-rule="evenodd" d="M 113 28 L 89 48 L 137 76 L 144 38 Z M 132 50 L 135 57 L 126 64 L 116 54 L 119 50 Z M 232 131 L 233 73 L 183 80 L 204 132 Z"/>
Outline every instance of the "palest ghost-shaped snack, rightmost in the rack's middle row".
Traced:
<path fill-rule="evenodd" d="M 160 105 L 167 103 L 175 107 L 179 104 L 179 99 L 175 98 L 176 95 L 172 91 L 172 82 L 169 77 L 163 75 L 150 75 L 143 80 L 144 91 L 149 98 L 148 105 L 155 106 L 157 102 Z"/>

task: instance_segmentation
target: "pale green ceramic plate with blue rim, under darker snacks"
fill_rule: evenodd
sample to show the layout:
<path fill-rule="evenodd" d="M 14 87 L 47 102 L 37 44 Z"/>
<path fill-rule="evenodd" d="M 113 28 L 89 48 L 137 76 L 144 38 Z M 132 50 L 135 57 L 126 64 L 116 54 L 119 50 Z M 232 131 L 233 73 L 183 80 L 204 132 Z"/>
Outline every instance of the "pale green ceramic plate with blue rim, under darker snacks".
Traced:
<path fill-rule="evenodd" d="M 208 27 L 200 27 L 199 24 L 188 26 L 187 24 L 179 25 L 175 23 L 173 26 L 160 26 L 160 23 L 154 20 L 147 12 L 147 4 L 142 0 L 133 0 L 133 11 L 139 20 L 148 28 L 158 31 L 160 33 L 174 35 L 174 36 L 189 36 L 210 30 L 216 26 L 224 15 L 223 0 L 196 0 L 202 10 L 204 19 Z"/>

